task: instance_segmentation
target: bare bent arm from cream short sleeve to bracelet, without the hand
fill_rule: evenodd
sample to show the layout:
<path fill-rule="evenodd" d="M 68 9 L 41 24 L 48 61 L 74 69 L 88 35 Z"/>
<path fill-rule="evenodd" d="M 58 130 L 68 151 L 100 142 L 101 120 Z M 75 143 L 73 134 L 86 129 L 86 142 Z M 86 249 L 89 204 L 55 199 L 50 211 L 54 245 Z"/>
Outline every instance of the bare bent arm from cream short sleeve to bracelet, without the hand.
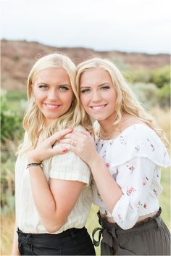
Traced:
<path fill-rule="evenodd" d="M 64 225 L 85 183 L 51 179 L 49 187 L 40 167 L 31 167 L 29 173 L 34 202 L 43 225 L 46 231 L 55 232 Z"/>

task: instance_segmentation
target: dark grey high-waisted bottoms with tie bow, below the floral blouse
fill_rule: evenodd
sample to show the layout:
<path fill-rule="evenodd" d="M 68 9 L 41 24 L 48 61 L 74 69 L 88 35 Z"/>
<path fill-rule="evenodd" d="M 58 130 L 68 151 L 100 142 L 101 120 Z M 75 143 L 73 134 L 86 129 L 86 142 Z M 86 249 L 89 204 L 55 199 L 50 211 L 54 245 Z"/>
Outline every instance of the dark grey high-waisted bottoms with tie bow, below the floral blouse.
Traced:
<path fill-rule="evenodd" d="M 109 223 L 101 218 L 99 223 L 99 241 L 93 239 L 95 246 L 99 245 L 101 234 L 101 255 L 170 255 L 170 231 L 160 217 L 162 210 L 157 215 L 136 223 L 133 228 L 123 230 L 117 223 Z"/>

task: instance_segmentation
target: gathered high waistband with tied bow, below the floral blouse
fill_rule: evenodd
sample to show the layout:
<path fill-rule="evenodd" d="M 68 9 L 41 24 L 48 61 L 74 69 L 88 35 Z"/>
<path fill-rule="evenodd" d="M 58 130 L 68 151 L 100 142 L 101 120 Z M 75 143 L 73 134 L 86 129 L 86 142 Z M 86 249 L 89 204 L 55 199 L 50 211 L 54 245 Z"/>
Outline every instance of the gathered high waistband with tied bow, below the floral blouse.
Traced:
<path fill-rule="evenodd" d="M 93 244 L 98 247 L 100 240 L 101 240 L 101 235 L 105 234 L 105 242 L 109 244 L 110 247 L 112 247 L 112 239 L 116 238 L 118 235 L 122 234 L 128 234 L 128 233 L 133 233 L 137 231 L 145 231 L 148 229 L 151 229 L 154 226 L 160 226 L 162 222 L 162 218 L 160 217 L 162 212 L 161 207 L 159 207 L 159 211 L 157 212 L 157 215 L 154 215 L 154 217 L 146 218 L 145 220 L 142 220 L 138 223 L 135 223 L 135 226 L 133 228 L 124 230 L 120 228 L 120 226 L 117 225 L 117 223 L 109 223 L 106 219 L 101 218 L 100 212 L 97 212 L 97 215 L 99 217 L 99 223 L 101 225 L 101 228 L 95 228 L 93 230 Z M 96 241 L 94 239 L 94 235 L 96 232 L 99 231 L 99 239 Z"/>

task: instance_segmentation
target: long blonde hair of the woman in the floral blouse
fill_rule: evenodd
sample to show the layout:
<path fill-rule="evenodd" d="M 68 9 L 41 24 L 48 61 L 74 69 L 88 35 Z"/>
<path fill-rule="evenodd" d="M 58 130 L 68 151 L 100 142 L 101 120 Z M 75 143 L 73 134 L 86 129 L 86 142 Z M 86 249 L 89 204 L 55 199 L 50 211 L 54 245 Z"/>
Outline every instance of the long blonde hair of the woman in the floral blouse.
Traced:
<path fill-rule="evenodd" d="M 137 117 L 139 120 L 143 121 L 150 128 L 152 128 L 161 139 L 167 141 L 164 136 L 162 129 L 157 126 L 153 117 L 149 115 L 141 106 L 140 102 L 135 98 L 133 91 L 131 91 L 128 83 L 125 82 L 120 70 L 108 59 L 102 59 L 99 57 L 94 57 L 92 59 L 88 59 L 84 62 L 81 62 L 77 67 L 77 75 L 76 75 L 76 87 L 78 94 L 80 95 L 80 77 L 81 75 L 87 71 L 92 70 L 93 68 L 100 67 L 102 70 L 106 70 L 111 79 L 114 88 L 117 91 L 117 101 L 116 101 L 116 113 L 117 117 L 114 120 L 113 125 L 116 127 L 121 119 L 123 114 L 132 115 Z M 84 117 L 84 121 L 82 121 L 83 125 L 86 122 L 91 122 L 90 117 L 86 114 L 86 111 L 83 109 L 83 106 L 80 107 L 81 114 Z"/>

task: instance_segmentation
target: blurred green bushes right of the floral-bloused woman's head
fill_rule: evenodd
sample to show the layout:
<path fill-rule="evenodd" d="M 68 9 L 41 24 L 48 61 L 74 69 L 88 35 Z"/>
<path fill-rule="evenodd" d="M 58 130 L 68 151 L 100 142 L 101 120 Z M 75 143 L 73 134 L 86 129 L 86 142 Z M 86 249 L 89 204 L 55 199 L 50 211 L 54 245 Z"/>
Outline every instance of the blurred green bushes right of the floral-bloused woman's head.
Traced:
<path fill-rule="evenodd" d="M 133 86 L 133 91 L 142 103 L 149 107 L 170 107 L 170 66 L 157 70 L 130 70 L 125 79 Z"/>

